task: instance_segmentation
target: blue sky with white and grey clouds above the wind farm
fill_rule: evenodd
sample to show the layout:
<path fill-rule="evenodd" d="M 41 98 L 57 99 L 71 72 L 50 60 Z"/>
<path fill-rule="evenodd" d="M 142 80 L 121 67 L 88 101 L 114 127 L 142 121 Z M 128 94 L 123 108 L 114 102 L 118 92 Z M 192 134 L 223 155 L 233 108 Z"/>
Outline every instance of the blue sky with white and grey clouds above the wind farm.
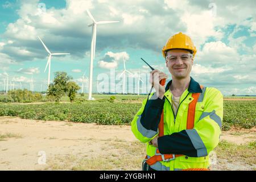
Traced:
<path fill-rule="evenodd" d="M 161 49 L 181 31 L 198 50 L 191 73 L 196 81 L 224 95 L 256 94 L 255 7 L 255 0 L 0 0 L 0 90 L 6 73 L 15 86 L 29 88 L 33 79 L 34 90 L 45 88 L 48 54 L 37 36 L 51 52 L 71 53 L 52 57 L 51 80 L 65 71 L 81 85 L 82 75 L 89 77 L 89 9 L 96 20 L 119 21 L 97 26 L 94 82 L 110 69 L 121 73 L 123 57 L 132 73 L 150 71 L 140 57 L 168 73 Z"/>

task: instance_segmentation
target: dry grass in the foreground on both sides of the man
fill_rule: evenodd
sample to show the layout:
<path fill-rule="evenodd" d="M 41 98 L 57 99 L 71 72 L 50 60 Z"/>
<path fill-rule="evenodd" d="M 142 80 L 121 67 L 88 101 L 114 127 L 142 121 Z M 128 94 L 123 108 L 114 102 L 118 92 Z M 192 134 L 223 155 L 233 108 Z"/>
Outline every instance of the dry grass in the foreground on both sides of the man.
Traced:
<path fill-rule="evenodd" d="M 96 139 L 93 139 L 97 142 Z M 126 142 L 119 139 L 104 139 L 101 155 L 92 151 L 81 155 L 57 156 L 49 160 L 48 170 L 141 170 L 141 162 L 146 154 L 145 144 Z M 254 170 L 255 142 L 237 145 L 222 141 L 216 148 L 218 164 L 213 169 L 230 170 L 232 165 Z M 226 166 L 228 164 L 228 166 Z"/>

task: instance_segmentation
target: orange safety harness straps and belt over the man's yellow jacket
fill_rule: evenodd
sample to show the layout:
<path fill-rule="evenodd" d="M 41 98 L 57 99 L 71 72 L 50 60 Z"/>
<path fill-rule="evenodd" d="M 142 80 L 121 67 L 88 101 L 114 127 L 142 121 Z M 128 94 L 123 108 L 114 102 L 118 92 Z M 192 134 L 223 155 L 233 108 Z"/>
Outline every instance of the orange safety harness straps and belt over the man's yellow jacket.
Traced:
<path fill-rule="evenodd" d="M 200 85 L 200 87 L 201 87 L 201 89 L 203 88 L 202 85 Z M 194 127 L 196 102 L 197 102 L 199 96 L 200 96 L 200 93 L 193 93 L 192 97 L 194 99 L 188 105 L 187 130 L 193 129 L 193 127 Z M 163 113 L 164 112 L 162 111 L 160 122 L 159 122 L 159 125 L 158 125 L 158 130 L 159 130 L 158 136 L 159 137 L 162 137 L 164 135 L 164 121 L 163 121 L 164 115 L 163 115 Z M 153 165 L 153 164 L 155 164 L 156 162 L 159 162 L 159 161 L 167 162 L 167 161 L 175 159 L 177 157 L 184 156 L 182 154 L 160 154 L 158 149 L 156 149 L 156 154 L 159 154 L 159 155 L 151 156 L 151 158 L 149 158 L 149 159 L 147 159 L 147 156 L 146 156 L 146 159 L 147 159 L 146 163 L 148 165 L 151 166 L 151 165 Z M 206 169 L 206 168 L 191 168 L 191 169 L 183 169 L 182 171 L 209 171 L 209 169 Z"/>

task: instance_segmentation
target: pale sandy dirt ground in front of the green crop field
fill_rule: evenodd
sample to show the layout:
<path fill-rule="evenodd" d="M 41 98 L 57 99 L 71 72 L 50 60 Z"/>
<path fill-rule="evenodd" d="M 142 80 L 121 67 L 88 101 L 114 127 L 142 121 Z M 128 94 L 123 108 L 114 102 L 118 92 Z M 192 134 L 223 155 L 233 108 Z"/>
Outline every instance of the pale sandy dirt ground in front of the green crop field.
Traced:
<path fill-rule="evenodd" d="M 255 132 L 241 132 L 223 132 L 221 139 L 255 140 Z M 145 152 L 130 126 L 0 117 L 0 134 L 0 170 L 140 170 Z"/>

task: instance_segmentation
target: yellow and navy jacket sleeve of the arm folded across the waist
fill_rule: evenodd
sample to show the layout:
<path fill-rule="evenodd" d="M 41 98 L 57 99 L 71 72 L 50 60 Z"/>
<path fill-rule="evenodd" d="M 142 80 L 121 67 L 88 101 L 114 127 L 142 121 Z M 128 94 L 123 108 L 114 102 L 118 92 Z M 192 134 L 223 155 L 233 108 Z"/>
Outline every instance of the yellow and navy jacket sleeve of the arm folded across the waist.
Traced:
<path fill-rule="evenodd" d="M 223 118 L 223 96 L 214 88 L 208 88 L 205 110 L 191 130 L 164 135 L 158 138 L 161 154 L 183 154 L 190 157 L 209 155 L 218 144 Z"/>

